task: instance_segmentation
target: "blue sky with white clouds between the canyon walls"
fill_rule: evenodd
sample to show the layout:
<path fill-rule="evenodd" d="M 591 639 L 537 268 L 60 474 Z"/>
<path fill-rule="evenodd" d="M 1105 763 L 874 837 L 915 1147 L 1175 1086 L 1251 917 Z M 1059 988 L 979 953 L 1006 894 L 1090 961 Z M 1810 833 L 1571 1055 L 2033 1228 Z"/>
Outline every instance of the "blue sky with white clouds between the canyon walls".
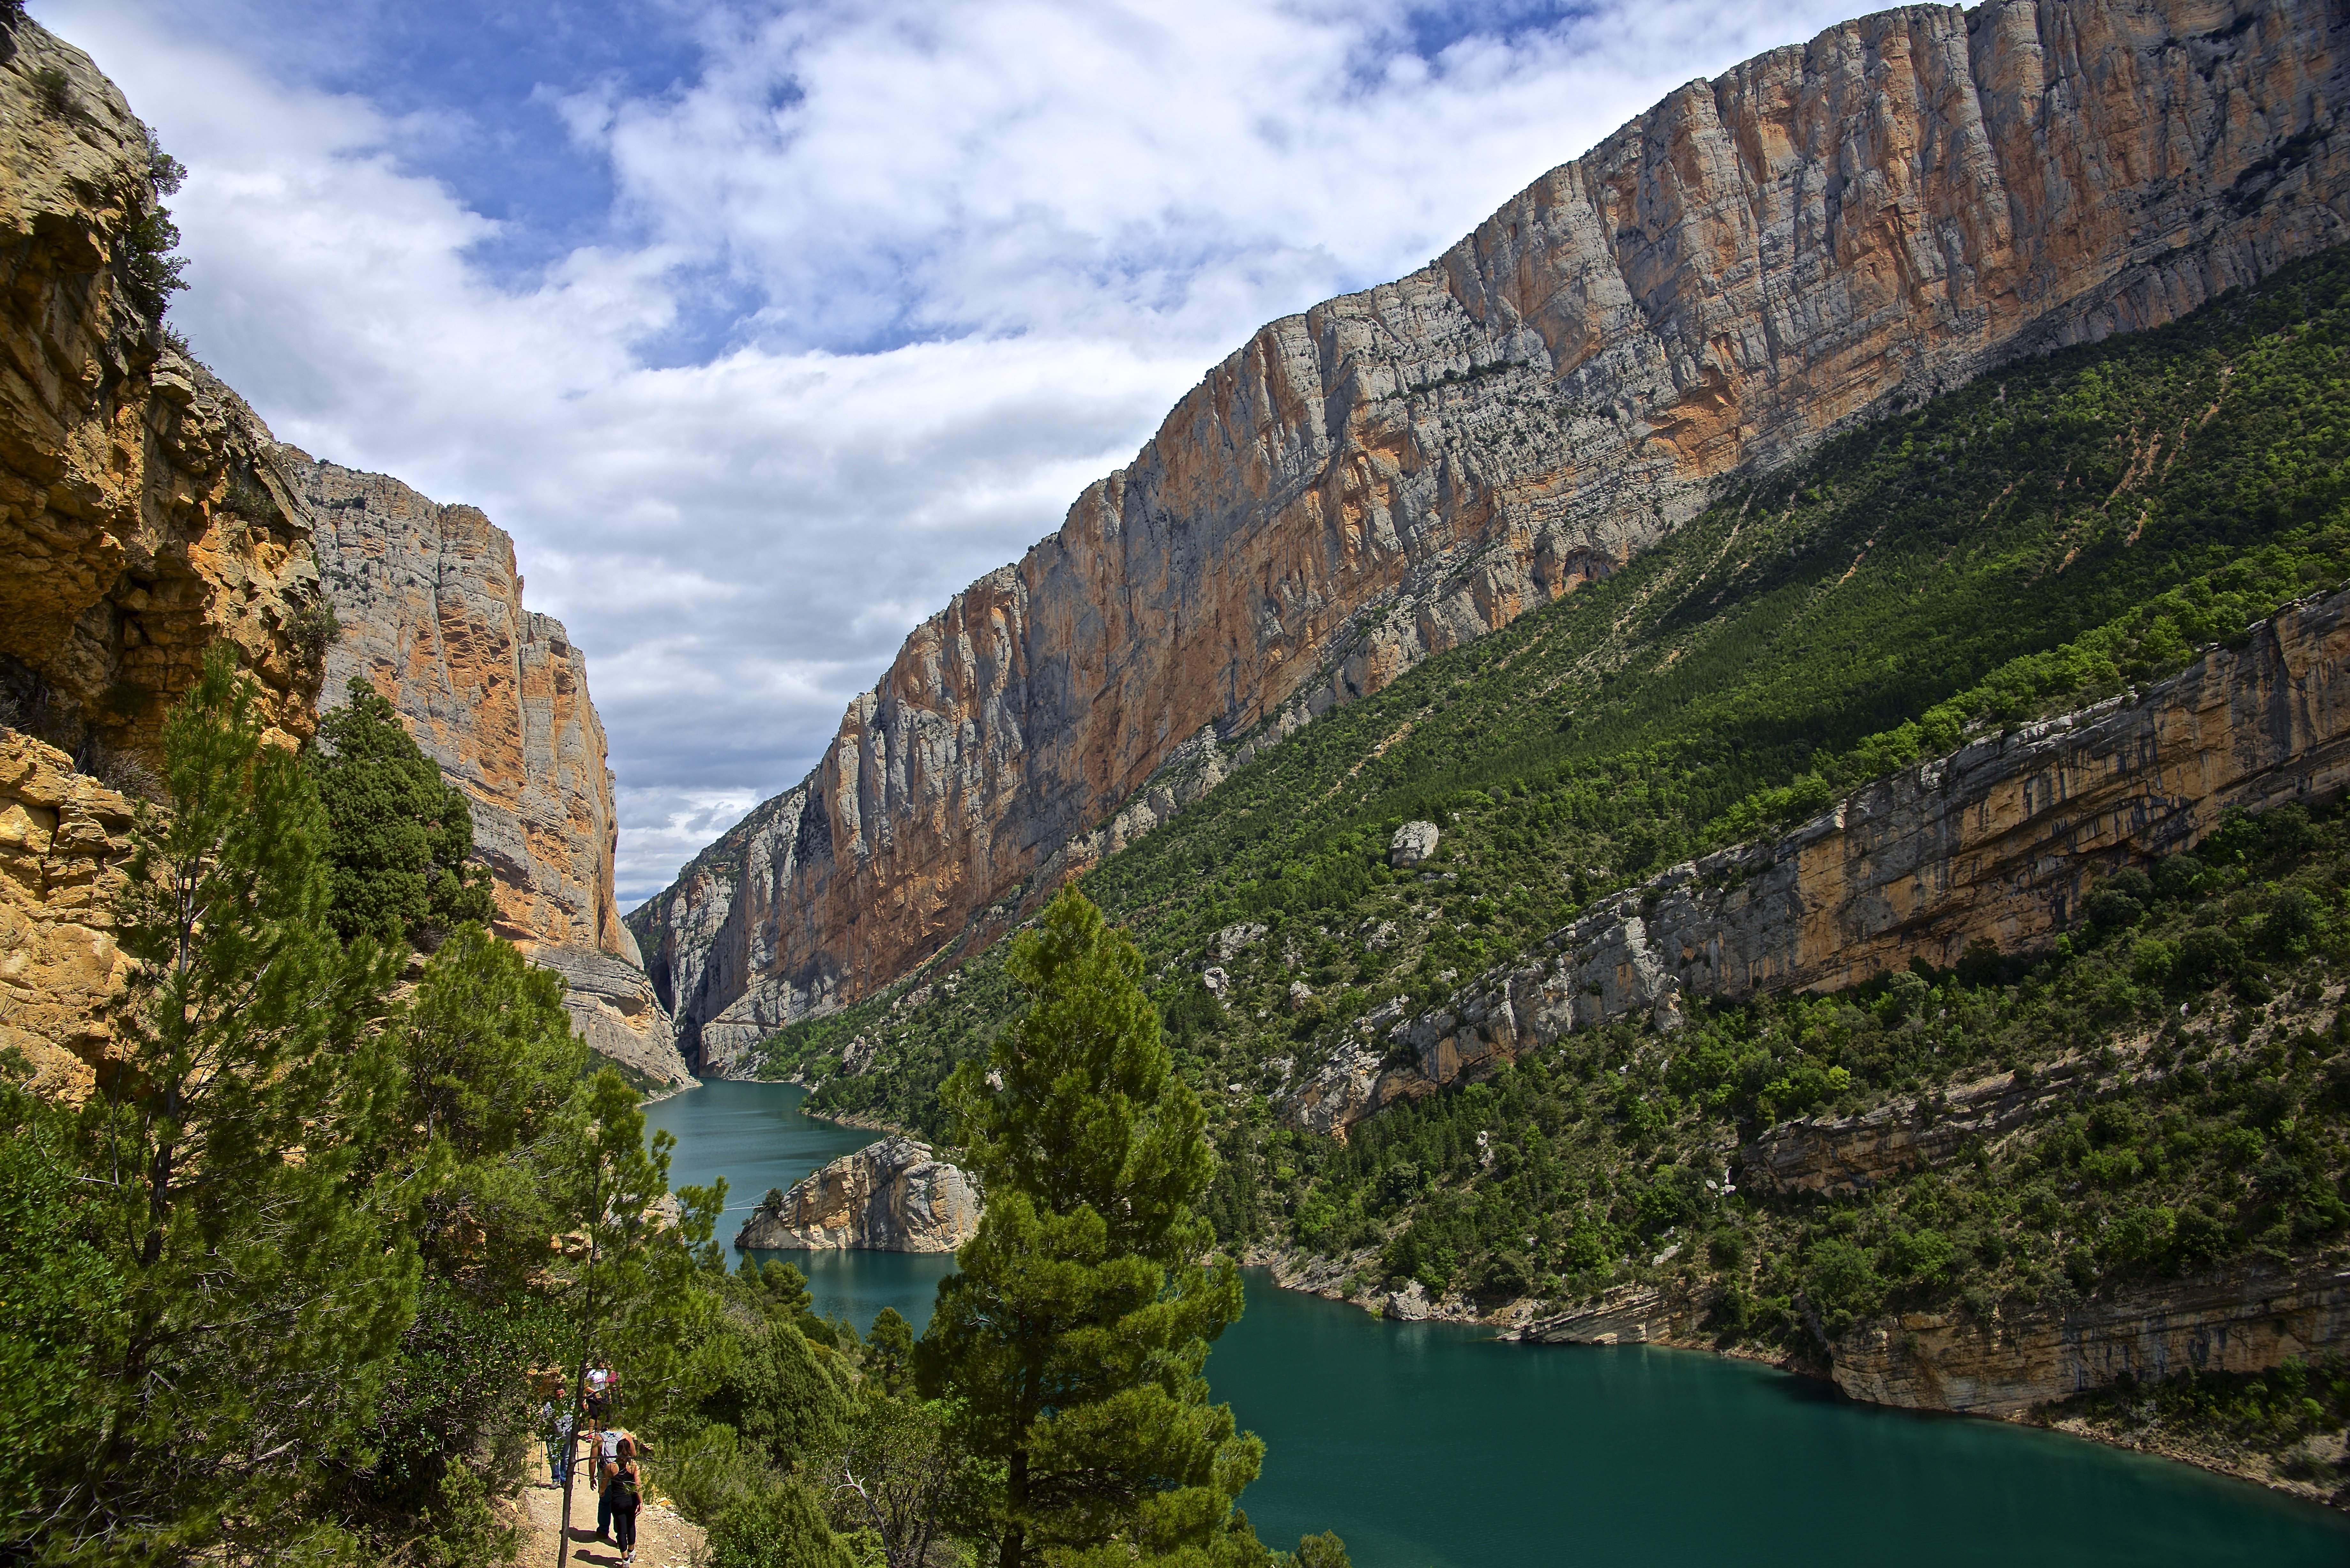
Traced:
<path fill-rule="evenodd" d="M 588 649 L 623 907 L 1250 329 L 1854 0 L 31 0 L 190 169 L 174 320 Z"/>

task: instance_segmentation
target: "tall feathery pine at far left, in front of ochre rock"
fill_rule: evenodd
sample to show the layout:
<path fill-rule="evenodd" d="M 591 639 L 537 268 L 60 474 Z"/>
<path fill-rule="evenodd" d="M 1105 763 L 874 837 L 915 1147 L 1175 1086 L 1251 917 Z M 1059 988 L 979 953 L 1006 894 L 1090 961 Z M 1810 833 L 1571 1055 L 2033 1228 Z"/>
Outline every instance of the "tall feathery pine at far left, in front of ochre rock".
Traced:
<path fill-rule="evenodd" d="M 390 961 L 327 929 L 327 820 L 230 649 L 164 724 L 118 940 L 115 1053 L 82 1112 L 78 1229 L 113 1272 L 49 1455 L 42 1552 L 244 1561 L 306 1521 L 409 1321 L 416 1246 L 360 1150 L 390 1107 Z"/>

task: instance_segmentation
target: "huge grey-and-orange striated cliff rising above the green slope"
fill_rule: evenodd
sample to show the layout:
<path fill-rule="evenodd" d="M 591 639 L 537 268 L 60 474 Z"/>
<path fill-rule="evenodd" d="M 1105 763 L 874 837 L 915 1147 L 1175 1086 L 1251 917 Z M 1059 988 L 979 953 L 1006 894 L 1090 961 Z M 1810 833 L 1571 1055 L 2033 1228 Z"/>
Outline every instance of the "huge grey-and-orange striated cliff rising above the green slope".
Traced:
<path fill-rule="evenodd" d="M 1213 783 L 1614 571 L 1716 475 L 2343 240 L 2345 45 L 2319 0 L 1882 12 L 1264 327 L 630 917 L 682 1044 L 724 1063 L 886 985 L 1114 849 L 1170 762 Z"/>

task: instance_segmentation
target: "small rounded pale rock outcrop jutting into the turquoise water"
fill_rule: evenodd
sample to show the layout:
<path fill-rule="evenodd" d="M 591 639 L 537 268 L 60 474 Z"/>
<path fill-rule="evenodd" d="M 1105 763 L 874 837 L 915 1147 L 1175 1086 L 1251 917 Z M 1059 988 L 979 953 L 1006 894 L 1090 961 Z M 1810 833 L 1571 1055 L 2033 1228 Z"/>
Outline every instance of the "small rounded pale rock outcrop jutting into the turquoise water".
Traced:
<path fill-rule="evenodd" d="M 886 1138 L 804 1178 L 780 1204 L 759 1204 L 736 1246 L 952 1253 L 978 1227 L 980 1194 L 961 1168 L 912 1138 Z"/>

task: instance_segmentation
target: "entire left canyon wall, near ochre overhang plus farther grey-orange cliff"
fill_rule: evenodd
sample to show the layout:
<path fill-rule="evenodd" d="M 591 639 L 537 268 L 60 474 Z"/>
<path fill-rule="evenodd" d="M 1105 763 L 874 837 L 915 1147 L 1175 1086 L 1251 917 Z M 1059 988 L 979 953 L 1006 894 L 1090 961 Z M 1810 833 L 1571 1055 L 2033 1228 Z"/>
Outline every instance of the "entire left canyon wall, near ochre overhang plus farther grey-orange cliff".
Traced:
<path fill-rule="evenodd" d="M 392 698 L 472 802 L 501 933 L 564 976 L 592 1046 L 684 1081 L 613 905 L 583 656 L 522 609 L 486 517 L 280 447 L 141 313 L 125 235 L 153 202 L 148 158 L 80 49 L 0 24 L 0 1041 L 87 1088 L 132 811 L 108 785 L 141 788 L 228 642 L 282 743 L 352 672 Z"/>

